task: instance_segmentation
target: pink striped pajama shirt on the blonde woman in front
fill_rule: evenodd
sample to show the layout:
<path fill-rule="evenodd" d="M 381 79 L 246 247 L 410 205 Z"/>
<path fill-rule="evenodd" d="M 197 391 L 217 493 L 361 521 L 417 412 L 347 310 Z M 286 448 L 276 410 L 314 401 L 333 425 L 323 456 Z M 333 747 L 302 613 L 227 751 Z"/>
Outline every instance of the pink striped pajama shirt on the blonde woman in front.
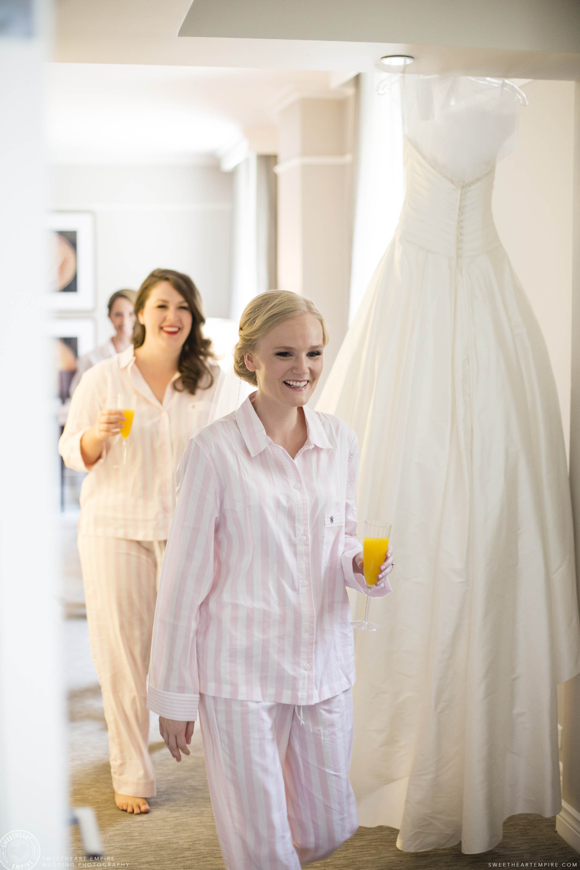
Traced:
<path fill-rule="evenodd" d="M 355 679 L 345 584 L 366 591 L 352 571 L 356 435 L 305 408 L 292 459 L 266 435 L 255 395 L 198 432 L 177 472 L 148 693 L 170 719 L 196 719 L 200 692 L 316 704 Z"/>

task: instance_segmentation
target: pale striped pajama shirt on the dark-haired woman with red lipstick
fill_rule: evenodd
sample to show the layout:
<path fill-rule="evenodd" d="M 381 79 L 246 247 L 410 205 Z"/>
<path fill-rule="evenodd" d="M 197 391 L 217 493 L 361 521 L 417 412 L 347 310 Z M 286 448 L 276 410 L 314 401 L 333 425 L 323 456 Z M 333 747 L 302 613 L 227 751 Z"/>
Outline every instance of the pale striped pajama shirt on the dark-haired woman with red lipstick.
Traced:
<path fill-rule="evenodd" d="M 210 419 L 211 404 L 223 378 L 212 367 L 209 390 L 167 387 L 163 403 L 135 365 L 133 345 L 85 371 L 73 397 L 58 451 L 65 465 L 90 474 L 81 490 L 80 534 L 131 540 L 165 540 L 176 505 L 176 470 L 192 435 Z M 176 375 L 177 378 L 177 375 Z M 174 379 L 176 379 L 174 378 Z M 103 456 L 88 469 L 81 456 L 83 432 L 105 408 L 117 407 L 117 394 L 137 394 L 122 465 L 123 438 L 110 438 Z M 117 467 L 114 467 L 117 465 Z"/>

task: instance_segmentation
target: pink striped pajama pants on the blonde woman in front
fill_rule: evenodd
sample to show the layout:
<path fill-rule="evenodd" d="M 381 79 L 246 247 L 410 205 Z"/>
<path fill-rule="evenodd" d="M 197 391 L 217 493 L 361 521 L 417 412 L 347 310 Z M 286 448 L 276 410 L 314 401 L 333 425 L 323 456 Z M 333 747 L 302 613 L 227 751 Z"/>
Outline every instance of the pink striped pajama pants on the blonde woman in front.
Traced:
<path fill-rule="evenodd" d="M 228 870 L 298 870 L 357 831 L 350 689 L 303 707 L 202 694 L 199 722 Z"/>

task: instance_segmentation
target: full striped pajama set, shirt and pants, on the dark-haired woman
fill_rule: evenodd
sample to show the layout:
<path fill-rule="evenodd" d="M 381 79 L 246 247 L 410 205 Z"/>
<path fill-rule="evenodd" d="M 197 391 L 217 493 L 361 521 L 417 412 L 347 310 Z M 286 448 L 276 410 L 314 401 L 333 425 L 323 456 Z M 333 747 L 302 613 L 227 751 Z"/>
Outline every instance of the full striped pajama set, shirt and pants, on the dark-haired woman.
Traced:
<path fill-rule="evenodd" d="M 159 569 L 176 504 L 177 465 L 191 436 L 208 422 L 223 378 L 217 366 L 212 371 L 209 390 L 192 395 L 171 383 L 158 402 L 130 345 L 83 374 L 58 445 L 66 465 L 89 472 L 81 490 L 78 550 L 90 648 L 109 731 L 113 787 L 136 797 L 155 794 L 146 676 Z M 83 432 L 103 409 L 117 407 L 119 393 L 137 397 L 127 465 L 117 435 L 87 468 Z"/>

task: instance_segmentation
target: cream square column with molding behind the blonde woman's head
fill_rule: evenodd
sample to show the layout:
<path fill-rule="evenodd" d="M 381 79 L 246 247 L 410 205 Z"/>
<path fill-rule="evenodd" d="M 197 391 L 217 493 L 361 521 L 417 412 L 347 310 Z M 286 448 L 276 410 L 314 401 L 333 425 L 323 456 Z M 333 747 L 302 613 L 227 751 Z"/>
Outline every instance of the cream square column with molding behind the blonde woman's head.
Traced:
<path fill-rule="evenodd" d="M 352 114 L 352 97 L 303 97 L 278 117 L 278 287 L 323 314 L 326 374 L 349 318 Z"/>

